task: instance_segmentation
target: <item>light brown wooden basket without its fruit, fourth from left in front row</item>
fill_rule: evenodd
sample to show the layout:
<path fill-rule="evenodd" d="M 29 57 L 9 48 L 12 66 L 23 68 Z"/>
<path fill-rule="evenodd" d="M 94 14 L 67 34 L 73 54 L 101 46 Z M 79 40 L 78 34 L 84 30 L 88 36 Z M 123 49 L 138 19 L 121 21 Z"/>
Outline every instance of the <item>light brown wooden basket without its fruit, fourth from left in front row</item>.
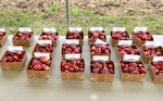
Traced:
<path fill-rule="evenodd" d="M 114 67 L 113 61 L 109 61 L 106 63 L 113 64 Z M 115 67 L 114 67 L 114 73 L 115 73 Z M 90 74 L 90 80 L 92 81 L 112 83 L 113 78 L 114 78 L 114 74 L 96 74 L 96 73 Z"/>

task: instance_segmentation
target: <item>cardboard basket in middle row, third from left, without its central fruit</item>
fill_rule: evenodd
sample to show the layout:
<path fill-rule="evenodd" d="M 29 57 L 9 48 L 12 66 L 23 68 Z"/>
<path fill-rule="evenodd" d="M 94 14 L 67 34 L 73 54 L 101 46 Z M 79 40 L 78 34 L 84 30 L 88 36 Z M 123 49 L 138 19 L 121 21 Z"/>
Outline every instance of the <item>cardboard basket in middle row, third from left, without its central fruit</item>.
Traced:
<path fill-rule="evenodd" d="M 96 52 L 93 52 L 93 51 L 96 51 L 96 47 L 100 47 L 100 46 L 105 46 L 106 48 L 109 48 L 109 49 L 106 49 L 106 51 L 108 51 L 108 53 L 104 53 L 103 51 L 101 51 L 101 53 L 96 53 Z M 93 49 L 92 49 L 92 47 L 95 47 Z M 93 59 L 93 56 L 108 56 L 108 59 L 110 60 L 111 59 L 111 49 L 110 49 L 110 46 L 109 45 L 91 45 L 90 46 L 90 59 Z"/>

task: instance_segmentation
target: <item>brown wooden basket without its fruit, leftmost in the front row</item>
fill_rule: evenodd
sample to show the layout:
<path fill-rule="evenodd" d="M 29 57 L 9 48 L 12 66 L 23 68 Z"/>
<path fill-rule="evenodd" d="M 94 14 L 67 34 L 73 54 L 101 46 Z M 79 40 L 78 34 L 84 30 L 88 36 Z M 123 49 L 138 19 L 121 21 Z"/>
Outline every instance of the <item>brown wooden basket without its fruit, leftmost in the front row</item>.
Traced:
<path fill-rule="evenodd" d="M 5 51 L 3 56 L 1 58 L 1 60 L 9 53 L 9 51 Z M 2 67 L 3 71 L 5 70 L 23 70 L 23 67 L 25 66 L 25 61 L 26 61 L 27 54 L 25 51 L 25 55 L 22 60 L 22 62 L 2 62 L 0 61 L 0 65 Z"/>

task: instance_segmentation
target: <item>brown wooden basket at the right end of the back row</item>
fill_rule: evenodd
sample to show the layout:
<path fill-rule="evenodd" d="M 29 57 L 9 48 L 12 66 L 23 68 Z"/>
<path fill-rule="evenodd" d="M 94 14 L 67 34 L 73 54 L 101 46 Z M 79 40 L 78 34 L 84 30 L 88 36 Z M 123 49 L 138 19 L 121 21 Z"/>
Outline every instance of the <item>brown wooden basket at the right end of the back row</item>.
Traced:
<path fill-rule="evenodd" d="M 148 34 L 148 35 L 150 35 L 150 33 L 146 33 L 146 34 Z M 137 47 L 141 47 L 147 40 L 137 40 L 136 39 L 136 35 L 137 34 L 135 34 L 135 33 L 133 33 L 133 41 L 134 41 L 134 45 L 135 46 L 137 46 Z M 152 40 L 150 40 L 150 41 L 153 41 L 154 39 L 153 39 L 153 37 L 152 37 Z M 148 40 L 149 41 L 149 40 Z"/>

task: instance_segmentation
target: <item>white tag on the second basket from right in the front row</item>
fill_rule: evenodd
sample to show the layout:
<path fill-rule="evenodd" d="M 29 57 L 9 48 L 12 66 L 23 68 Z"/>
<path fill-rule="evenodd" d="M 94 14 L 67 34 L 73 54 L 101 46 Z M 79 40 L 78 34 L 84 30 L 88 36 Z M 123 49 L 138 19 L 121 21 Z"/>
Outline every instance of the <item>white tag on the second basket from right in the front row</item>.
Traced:
<path fill-rule="evenodd" d="M 137 62 L 137 61 L 140 60 L 140 55 L 125 54 L 123 60 L 124 61 L 129 61 L 129 62 Z"/>

